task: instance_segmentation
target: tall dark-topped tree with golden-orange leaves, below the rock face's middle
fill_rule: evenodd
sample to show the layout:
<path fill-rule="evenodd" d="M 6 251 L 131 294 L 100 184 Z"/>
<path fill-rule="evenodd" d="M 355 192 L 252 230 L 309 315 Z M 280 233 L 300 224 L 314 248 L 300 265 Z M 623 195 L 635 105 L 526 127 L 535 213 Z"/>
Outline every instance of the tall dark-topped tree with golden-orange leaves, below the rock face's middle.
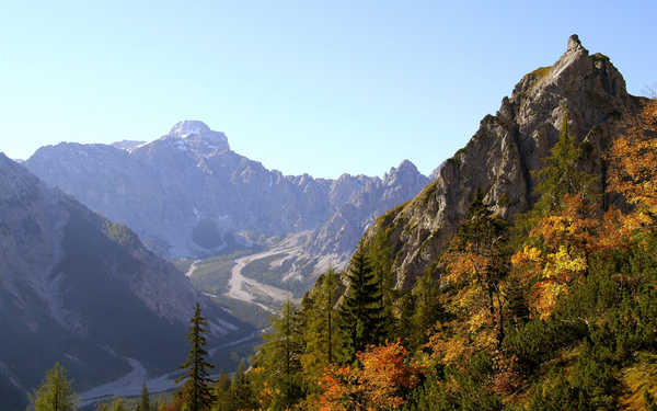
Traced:
<path fill-rule="evenodd" d="M 456 319 L 438 324 L 429 346 L 449 363 L 472 350 L 499 349 L 504 339 L 502 282 L 508 274 L 507 226 L 484 204 L 474 201 L 447 252 L 442 281 L 453 292 L 446 309 Z"/>

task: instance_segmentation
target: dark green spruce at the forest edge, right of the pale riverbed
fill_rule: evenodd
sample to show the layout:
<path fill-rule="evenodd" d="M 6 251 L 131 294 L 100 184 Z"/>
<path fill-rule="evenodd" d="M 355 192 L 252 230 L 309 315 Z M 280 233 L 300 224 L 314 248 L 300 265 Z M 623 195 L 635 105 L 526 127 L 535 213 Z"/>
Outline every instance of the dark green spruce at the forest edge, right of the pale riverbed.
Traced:
<path fill-rule="evenodd" d="M 356 353 L 380 342 L 382 309 L 379 283 L 362 251 L 354 254 L 347 278 L 349 284 L 339 307 L 339 317 L 343 359 L 350 362 Z"/>

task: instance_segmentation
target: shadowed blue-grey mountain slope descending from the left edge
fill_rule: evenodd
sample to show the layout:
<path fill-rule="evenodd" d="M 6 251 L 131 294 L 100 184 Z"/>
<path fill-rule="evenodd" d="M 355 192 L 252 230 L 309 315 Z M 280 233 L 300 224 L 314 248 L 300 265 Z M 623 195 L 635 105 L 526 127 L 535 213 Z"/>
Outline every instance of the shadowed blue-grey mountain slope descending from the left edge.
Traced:
<path fill-rule="evenodd" d="M 55 362 L 78 390 L 134 364 L 151 376 L 173 370 L 187 351 L 195 301 L 214 343 L 251 332 L 127 227 L 1 153 L 0 273 L 0 328 L 11 336 L 0 339 L 3 409 L 24 409 L 26 392 Z"/>

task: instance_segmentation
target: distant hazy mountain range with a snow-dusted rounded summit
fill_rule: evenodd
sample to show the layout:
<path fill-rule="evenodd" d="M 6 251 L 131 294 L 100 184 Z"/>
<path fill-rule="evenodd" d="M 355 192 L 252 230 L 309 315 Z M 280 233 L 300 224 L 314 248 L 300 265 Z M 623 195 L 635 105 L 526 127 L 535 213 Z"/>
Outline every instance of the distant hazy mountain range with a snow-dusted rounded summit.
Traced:
<path fill-rule="evenodd" d="M 344 262 L 378 214 L 429 182 L 410 161 L 383 179 L 283 175 L 231 151 L 222 133 L 196 121 L 177 123 L 148 144 L 43 147 L 25 165 L 128 225 L 163 256 L 214 255 L 315 230 L 307 252 Z"/>

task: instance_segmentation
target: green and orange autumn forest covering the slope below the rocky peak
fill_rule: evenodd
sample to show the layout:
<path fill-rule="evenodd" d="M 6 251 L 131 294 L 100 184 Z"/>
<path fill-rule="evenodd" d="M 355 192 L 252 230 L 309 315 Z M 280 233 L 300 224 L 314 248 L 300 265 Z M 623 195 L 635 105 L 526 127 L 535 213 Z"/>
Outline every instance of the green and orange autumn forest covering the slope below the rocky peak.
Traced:
<path fill-rule="evenodd" d="M 657 409 L 657 103 L 606 175 L 584 151 L 564 116 L 533 208 L 505 221 L 477 191 L 412 292 L 393 289 L 378 235 L 285 306 L 212 410 Z"/>

